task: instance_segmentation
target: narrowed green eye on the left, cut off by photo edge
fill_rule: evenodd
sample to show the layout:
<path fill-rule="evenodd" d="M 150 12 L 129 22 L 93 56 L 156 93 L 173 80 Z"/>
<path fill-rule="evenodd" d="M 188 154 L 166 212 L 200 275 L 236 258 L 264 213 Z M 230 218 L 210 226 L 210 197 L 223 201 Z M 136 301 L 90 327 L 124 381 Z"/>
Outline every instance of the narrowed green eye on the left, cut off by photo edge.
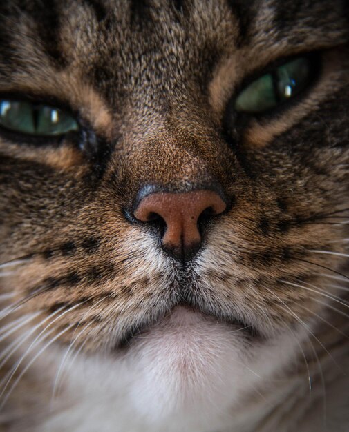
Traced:
<path fill-rule="evenodd" d="M 0 99 L 0 126 L 14 132 L 46 137 L 79 130 L 77 121 L 64 110 L 10 99 Z"/>

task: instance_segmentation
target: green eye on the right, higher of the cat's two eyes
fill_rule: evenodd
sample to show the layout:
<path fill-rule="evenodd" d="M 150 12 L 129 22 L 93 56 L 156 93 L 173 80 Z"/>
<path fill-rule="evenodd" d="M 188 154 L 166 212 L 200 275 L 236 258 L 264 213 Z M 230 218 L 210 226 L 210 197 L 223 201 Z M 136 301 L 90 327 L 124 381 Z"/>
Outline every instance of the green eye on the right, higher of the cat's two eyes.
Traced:
<path fill-rule="evenodd" d="M 310 75 L 310 60 L 305 57 L 285 63 L 249 84 L 236 98 L 234 108 L 249 114 L 270 110 L 304 90 Z"/>

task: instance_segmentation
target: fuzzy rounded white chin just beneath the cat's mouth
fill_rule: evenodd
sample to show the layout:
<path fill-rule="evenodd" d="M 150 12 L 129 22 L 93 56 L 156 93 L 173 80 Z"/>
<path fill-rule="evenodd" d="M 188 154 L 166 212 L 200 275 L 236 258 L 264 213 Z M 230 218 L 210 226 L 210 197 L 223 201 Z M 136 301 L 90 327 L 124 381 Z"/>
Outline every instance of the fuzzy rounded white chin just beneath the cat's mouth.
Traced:
<path fill-rule="evenodd" d="M 239 325 L 217 322 L 189 308 L 175 308 L 163 320 L 135 337 L 129 359 L 137 364 L 135 404 L 142 414 L 158 418 L 200 410 L 212 415 L 232 402 L 232 389 L 245 381 L 246 336 Z"/>

